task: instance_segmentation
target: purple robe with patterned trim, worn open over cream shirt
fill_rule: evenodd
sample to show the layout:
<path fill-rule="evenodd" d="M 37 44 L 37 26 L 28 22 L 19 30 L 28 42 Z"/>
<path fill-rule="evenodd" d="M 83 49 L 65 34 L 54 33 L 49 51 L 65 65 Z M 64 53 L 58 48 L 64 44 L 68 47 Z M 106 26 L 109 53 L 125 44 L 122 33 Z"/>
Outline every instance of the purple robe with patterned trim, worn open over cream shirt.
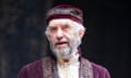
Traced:
<path fill-rule="evenodd" d="M 60 78 L 56 63 L 52 57 L 35 61 L 25 65 L 20 70 L 17 78 Z M 110 75 L 102 65 L 80 57 L 79 78 L 110 78 Z"/>

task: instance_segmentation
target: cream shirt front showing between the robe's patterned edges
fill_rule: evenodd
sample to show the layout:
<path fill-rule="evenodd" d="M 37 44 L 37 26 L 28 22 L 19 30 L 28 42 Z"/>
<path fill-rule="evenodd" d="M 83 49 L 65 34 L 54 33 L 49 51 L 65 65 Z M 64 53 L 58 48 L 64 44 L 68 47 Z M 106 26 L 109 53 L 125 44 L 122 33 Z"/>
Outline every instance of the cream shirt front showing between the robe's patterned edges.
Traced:
<path fill-rule="evenodd" d="M 79 53 L 70 61 L 57 61 L 57 69 L 60 78 L 79 78 Z"/>

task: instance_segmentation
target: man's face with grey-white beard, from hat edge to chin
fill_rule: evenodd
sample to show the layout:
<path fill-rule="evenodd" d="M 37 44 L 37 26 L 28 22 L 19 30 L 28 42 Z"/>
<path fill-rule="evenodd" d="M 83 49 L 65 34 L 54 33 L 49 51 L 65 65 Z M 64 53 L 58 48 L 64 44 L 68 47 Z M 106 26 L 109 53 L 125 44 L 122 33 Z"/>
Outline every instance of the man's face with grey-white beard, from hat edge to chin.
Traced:
<path fill-rule="evenodd" d="M 81 42 L 79 30 L 75 30 L 73 22 L 68 18 L 51 20 L 47 27 L 47 38 L 52 53 L 63 58 L 75 51 Z"/>

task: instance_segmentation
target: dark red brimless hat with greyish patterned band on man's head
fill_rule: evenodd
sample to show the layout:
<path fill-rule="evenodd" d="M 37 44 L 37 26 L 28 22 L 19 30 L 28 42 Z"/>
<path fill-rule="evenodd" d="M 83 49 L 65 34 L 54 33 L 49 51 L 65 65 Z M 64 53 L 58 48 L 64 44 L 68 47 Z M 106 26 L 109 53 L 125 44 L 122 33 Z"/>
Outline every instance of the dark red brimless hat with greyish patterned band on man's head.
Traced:
<path fill-rule="evenodd" d="M 47 24 L 53 18 L 70 18 L 83 25 L 82 10 L 70 4 L 60 4 L 50 9 L 47 12 Z"/>

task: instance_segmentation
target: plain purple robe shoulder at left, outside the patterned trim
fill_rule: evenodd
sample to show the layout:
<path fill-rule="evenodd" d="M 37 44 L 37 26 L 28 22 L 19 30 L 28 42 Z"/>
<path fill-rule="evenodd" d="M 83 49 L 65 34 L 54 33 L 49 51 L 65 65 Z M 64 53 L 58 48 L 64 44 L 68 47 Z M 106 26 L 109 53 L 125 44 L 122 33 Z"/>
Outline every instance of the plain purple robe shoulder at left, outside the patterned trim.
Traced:
<path fill-rule="evenodd" d="M 41 61 L 34 61 L 32 63 L 28 63 L 24 65 L 19 75 L 17 78 L 41 78 L 43 72 L 41 72 Z M 40 76 L 40 77 L 39 77 Z"/>

